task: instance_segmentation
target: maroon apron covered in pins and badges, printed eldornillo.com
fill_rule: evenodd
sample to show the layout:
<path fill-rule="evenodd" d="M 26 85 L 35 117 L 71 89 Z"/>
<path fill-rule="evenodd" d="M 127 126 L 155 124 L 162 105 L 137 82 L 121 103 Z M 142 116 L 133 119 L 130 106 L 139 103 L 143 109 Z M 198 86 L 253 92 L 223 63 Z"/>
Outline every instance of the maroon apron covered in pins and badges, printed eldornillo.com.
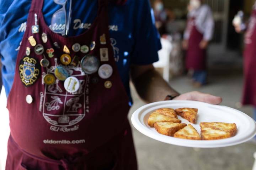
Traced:
<path fill-rule="evenodd" d="M 108 31 L 108 1 L 98 2 L 97 17 L 90 29 L 79 36 L 63 37 L 53 33 L 45 23 L 43 0 L 32 0 L 7 100 L 11 129 L 7 170 L 137 169 L 127 119 L 128 96 L 114 61 Z M 39 33 L 33 34 L 35 14 Z M 90 50 L 74 52 L 75 43 L 90 46 Z M 38 44 L 44 51 L 34 46 Z M 29 48 L 30 52 L 26 51 Z M 80 61 L 88 54 L 96 56 L 100 65 L 112 67 L 113 74 L 103 79 L 98 71 L 85 74 L 81 64 L 64 66 L 63 62 L 70 59 L 61 58 L 66 53 Z M 107 60 L 101 58 L 107 55 Z M 40 66 L 43 58 L 49 61 L 48 67 Z M 52 85 L 43 83 L 43 76 L 54 75 L 57 66 L 63 66 L 79 80 L 77 92 L 66 91 L 64 81 L 58 79 Z"/>

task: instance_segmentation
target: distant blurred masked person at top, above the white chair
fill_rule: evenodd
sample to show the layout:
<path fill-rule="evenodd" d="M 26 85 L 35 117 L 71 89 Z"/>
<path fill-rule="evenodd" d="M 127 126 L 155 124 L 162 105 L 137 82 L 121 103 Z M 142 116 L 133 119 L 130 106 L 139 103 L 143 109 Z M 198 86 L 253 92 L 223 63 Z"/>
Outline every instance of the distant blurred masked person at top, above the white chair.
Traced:
<path fill-rule="evenodd" d="M 155 0 L 153 4 L 153 8 L 154 8 L 156 28 L 158 29 L 160 35 L 165 34 L 167 14 L 164 9 L 164 4 L 162 0 Z"/>

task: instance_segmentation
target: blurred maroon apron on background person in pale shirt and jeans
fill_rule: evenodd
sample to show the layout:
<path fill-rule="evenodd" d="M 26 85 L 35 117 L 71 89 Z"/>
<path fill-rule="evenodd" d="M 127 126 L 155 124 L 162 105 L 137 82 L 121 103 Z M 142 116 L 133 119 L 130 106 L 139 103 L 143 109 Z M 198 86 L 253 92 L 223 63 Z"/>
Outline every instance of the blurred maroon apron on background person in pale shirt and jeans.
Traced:
<path fill-rule="evenodd" d="M 203 40 L 203 34 L 197 30 L 195 18 L 188 19 L 186 29 L 190 32 L 186 53 L 186 68 L 188 70 L 206 70 L 206 50 L 199 47 Z"/>

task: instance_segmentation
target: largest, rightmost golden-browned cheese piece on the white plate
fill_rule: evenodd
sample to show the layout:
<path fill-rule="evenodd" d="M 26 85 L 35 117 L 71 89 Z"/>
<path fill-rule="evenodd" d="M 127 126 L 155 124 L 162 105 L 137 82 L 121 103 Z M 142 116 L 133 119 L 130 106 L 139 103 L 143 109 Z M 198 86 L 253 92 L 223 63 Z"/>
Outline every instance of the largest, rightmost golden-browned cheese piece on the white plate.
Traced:
<path fill-rule="evenodd" d="M 235 123 L 201 122 L 202 140 L 217 140 L 232 137 L 236 134 Z"/>

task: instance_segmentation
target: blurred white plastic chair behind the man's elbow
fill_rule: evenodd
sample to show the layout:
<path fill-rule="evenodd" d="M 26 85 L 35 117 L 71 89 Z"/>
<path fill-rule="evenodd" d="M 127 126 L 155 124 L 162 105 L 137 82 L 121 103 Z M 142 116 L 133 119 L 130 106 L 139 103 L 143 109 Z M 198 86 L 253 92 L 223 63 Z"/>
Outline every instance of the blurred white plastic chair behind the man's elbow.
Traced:
<path fill-rule="evenodd" d="M 170 76 L 170 53 L 172 51 L 172 44 L 169 40 L 161 38 L 162 49 L 158 51 L 159 61 L 153 65 L 155 68 L 164 68 L 163 78 L 169 82 Z"/>

